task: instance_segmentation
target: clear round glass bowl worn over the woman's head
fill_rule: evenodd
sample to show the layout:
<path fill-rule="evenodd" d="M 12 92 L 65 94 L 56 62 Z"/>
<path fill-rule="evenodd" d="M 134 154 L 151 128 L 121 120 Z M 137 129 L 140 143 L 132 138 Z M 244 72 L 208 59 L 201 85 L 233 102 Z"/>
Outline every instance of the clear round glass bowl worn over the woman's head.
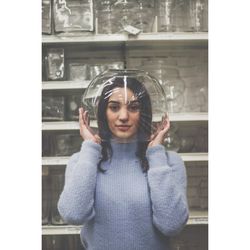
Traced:
<path fill-rule="evenodd" d="M 104 71 L 90 82 L 82 96 L 82 105 L 89 118 L 97 120 L 99 135 L 104 141 L 113 135 L 123 137 L 132 128 L 134 134 L 131 132 L 131 135 L 148 141 L 156 129 L 154 122 L 160 122 L 167 113 L 162 86 L 143 70 Z"/>

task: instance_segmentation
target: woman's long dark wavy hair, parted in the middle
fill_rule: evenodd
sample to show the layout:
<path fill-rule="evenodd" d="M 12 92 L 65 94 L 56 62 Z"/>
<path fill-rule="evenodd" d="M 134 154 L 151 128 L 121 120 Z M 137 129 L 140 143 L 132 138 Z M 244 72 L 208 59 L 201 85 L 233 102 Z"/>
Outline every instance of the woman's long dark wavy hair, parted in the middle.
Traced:
<path fill-rule="evenodd" d="M 112 148 L 110 144 L 110 139 L 112 133 L 108 126 L 106 110 L 108 106 L 108 100 L 110 93 L 114 88 L 124 88 L 124 77 L 116 77 L 112 80 L 112 84 L 107 84 L 103 90 L 99 99 L 98 109 L 97 109 L 97 123 L 99 136 L 102 138 L 102 159 L 98 163 L 98 169 L 101 172 L 105 172 L 101 168 L 101 163 L 107 161 L 112 157 Z M 140 103 L 140 119 L 139 126 L 137 131 L 137 150 L 135 152 L 136 156 L 141 161 L 141 167 L 143 172 L 148 170 L 148 161 L 146 158 L 146 150 L 151 136 L 151 124 L 152 124 L 152 107 L 150 96 L 144 87 L 144 85 L 139 82 L 136 78 L 127 76 L 126 79 L 126 88 L 130 89 L 134 96 L 137 97 L 137 100 Z"/>

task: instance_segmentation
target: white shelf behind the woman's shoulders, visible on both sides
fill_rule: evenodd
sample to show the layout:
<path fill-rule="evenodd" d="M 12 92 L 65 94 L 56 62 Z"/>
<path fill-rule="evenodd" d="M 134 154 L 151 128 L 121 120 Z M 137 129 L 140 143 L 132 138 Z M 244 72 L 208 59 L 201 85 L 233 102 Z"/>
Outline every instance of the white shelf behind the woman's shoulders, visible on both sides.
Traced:
<path fill-rule="evenodd" d="M 180 153 L 179 154 L 183 161 L 194 162 L 194 161 L 208 161 L 208 153 Z M 69 156 L 55 156 L 55 157 L 43 157 L 43 166 L 60 166 L 67 165 Z"/>

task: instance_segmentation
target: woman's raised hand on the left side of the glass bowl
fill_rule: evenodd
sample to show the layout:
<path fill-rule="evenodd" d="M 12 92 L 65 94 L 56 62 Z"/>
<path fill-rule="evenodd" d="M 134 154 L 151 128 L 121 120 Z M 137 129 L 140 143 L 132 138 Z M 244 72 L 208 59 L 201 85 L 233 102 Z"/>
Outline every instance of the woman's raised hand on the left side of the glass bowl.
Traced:
<path fill-rule="evenodd" d="M 97 134 L 94 134 L 89 127 L 88 111 L 84 111 L 83 108 L 79 108 L 79 125 L 80 135 L 83 140 L 92 140 L 98 144 L 101 143 L 101 138 Z"/>

